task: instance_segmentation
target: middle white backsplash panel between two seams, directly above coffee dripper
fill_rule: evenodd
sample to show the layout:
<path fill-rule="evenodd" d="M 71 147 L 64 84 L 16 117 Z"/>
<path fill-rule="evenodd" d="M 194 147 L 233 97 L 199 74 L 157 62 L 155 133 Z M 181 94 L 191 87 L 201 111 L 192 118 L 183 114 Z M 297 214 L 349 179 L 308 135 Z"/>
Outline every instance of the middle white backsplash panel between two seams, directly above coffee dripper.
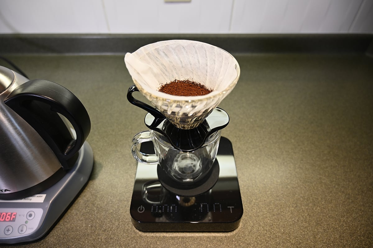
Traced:
<path fill-rule="evenodd" d="M 233 0 L 104 0 L 111 33 L 227 33 Z"/>

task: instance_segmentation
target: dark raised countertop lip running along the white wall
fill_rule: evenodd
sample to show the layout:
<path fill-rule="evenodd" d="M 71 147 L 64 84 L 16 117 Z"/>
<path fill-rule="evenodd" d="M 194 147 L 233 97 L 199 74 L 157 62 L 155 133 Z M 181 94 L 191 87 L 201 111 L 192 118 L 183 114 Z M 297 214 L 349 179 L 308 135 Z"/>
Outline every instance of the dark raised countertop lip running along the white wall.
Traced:
<path fill-rule="evenodd" d="M 3 34 L 0 54 L 125 54 L 172 39 L 202 41 L 230 53 L 373 53 L 372 34 Z"/>

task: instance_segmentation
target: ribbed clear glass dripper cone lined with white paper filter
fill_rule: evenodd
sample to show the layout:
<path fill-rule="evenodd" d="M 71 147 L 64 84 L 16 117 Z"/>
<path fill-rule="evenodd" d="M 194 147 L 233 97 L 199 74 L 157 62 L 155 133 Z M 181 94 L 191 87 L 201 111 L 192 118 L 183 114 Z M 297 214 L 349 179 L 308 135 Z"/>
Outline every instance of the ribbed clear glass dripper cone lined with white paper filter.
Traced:
<path fill-rule="evenodd" d="M 152 43 L 125 55 L 138 90 L 178 128 L 198 126 L 235 87 L 240 70 L 225 50 L 189 40 Z M 202 96 L 176 96 L 159 91 L 175 79 L 205 85 L 213 91 Z"/>

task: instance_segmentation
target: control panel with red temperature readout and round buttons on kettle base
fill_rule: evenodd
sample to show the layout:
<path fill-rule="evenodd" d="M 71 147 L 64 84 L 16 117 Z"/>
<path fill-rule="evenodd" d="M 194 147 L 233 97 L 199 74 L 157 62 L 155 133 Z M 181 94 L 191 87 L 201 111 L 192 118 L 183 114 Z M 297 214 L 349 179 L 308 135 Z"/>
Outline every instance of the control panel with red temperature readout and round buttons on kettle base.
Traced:
<path fill-rule="evenodd" d="M 34 232 L 42 215 L 42 208 L 0 208 L 0 238 L 12 238 Z"/>

